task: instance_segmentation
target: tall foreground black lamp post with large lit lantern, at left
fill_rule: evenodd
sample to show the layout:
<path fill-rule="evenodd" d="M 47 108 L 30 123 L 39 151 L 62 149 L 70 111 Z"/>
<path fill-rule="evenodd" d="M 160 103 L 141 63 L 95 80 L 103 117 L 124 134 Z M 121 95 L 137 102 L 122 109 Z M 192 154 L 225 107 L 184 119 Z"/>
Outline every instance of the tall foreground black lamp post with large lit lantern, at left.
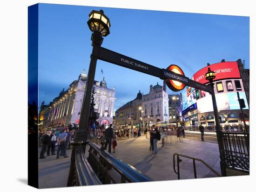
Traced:
<path fill-rule="evenodd" d="M 75 135 L 74 142 L 84 141 L 87 137 L 87 129 L 90 115 L 90 102 L 92 99 L 92 91 L 94 86 L 94 76 L 96 70 L 97 56 L 99 48 L 103 42 L 102 37 L 106 37 L 109 32 L 110 22 L 108 17 L 102 10 L 92 11 L 89 14 L 89 20 L 87 22 L 89 29 L 93 32 L 91 36 L 93 51 L 91 54 L 91 61 L 88 70 L 88 78 L 86 81 L 86 89 L 83 97 L 83 104 L 80 115 L 79 130 Z"/>

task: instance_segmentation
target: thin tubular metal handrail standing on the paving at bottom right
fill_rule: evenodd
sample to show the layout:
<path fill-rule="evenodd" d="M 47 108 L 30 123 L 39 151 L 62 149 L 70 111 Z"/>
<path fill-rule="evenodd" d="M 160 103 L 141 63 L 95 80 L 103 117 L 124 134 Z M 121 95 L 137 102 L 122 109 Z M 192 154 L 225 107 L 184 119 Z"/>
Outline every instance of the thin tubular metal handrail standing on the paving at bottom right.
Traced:
<path fill-rule="evenodd" d="M 176 168 L 175 168 L 175 155 L 177 155 L 177 169 L 178 169 L 178 171 L 176 171 Z M 192 160 L 193 160 L 193 167 L 194 167 L 194 176 L 195 176 L 195 179 L 197 178 L 196 167 L 195 167 L 195 160 L 202 162 L 202 163 L 203 163 L 205 166 L 207 166 L 213 173 L 215 173 L 217 177 L 221 177 L 221 175 L 220 175 L 218 172 L 216 172 L 211 166 L 209 166 L 209 165 L 208 165 L 206 162 L 204 162 L 203 160 L 201 160 L 201 159 L 199 159 L 199 158 L 196 158 L 196 157 L 191 157 L 191 156 L 188 156 L 188 155 L 175 153 L 175 154 L 173 154 L 173 169 L 174 169 L 174 172 L 178 175 L 178 179 L 180 179 L 180 162 L 182 161 L 179 156 L 182 156 L 182 157 L 185 157 L 185 158 L 188 158 L 188 159 L 192 159 Z"/>

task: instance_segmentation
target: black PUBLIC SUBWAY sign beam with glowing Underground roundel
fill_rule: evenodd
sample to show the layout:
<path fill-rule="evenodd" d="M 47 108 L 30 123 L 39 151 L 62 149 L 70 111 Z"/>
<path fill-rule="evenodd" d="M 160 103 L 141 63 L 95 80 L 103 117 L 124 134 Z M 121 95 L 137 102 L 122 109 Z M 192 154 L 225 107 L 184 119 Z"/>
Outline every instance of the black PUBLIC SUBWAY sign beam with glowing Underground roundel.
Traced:
<path fill-rule="evenodd" d="M 98 55 L 94 55 L 94 57 L 108 63 L 117 64 L 128 69 L 159 77 L 160 79 L 165 80 L 168 87 L 174 91 L 184 89 L 185 85 L 210 93 L 212 93 L 213 91 L 208 85 L 195 82 L 188 77 L 185 77 L 182 69 L 177 65 L 170 65 L 167 69 L 160 69 L 153 65 L 146 64 L 134 58 L 129 58 L 125 55 L 119 54 L 103 47 L 99 48 Z"/>

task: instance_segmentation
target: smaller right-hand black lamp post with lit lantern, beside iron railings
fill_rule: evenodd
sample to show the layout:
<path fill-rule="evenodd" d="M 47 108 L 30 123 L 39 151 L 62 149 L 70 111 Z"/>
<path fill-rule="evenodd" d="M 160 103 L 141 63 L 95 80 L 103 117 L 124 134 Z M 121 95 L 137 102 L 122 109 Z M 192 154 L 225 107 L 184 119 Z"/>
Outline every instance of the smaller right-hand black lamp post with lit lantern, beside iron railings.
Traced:
<path fill-rule="evenodd" d="M 214 92 L 214 83 L 213 80 L 215 79 L 215 72 L 212 71 L 210 68 L 208 68 L 207 73 L 205 73 L 205 79 L 209 81 L 209 85 L 212 88 L 212 104 L 213 104 L 213 112 L 214 112 L 214 118 L 215 118 L 215 124 L 216 124 L 216 136 L 217 136 L 217 141 L 219 145 L 219 151 L 220 151 L 220 166 L 221 166 L 221 172 L 222 176 L 226 176 L 226 170 L 223 166 L 223 158 L 222 158 L 222 151 L 223 151 L 223 144 L 222 144 L 222 139 L 221 139 L 221 128 L 220 128 L 220 121 L 219 121 L 219 115 L 218 115 L 218 108 L 217 108 L 217 103 L 216 103 L 216 97 L 215 97 L 215 92 Z"/>

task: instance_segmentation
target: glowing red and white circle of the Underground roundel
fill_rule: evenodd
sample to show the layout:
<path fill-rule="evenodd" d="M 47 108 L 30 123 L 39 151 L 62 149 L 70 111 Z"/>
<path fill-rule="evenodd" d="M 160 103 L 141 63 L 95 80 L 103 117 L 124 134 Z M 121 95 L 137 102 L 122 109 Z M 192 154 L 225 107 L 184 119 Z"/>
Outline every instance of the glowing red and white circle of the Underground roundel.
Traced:
<path fill-rule="evenodd" d="M 177 66 L 175 64 L 171 64 L 166 69 L 170 70 L 170 71 L 172 71 L 174 73 L 180 74 L 182 76 L 185 76 L 183 70 L 179 66 Z M 167 84 L 168 88 L 170 90 L 173 90 L 173 91 L 183 90 L 184 87 L 186 86 L 185 83 L 181 83 L 181 82 L 178 82 L 178 81 L 175 81 L 175 80 L 172 80 L 172 79 L 166 80 L 166 84 Z"/>

